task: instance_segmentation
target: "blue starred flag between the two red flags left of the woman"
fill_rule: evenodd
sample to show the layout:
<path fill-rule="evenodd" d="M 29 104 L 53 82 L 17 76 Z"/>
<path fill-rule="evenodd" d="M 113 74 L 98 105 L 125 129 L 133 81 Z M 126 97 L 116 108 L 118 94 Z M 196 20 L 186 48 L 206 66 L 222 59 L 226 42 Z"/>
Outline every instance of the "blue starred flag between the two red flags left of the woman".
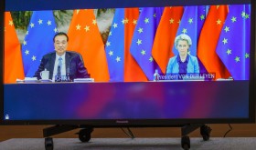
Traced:
<path fill-rule="evenodd" d="M 152 46 L 163 10 L 162 7 L 144 7 L 133 33 L 130 53 L 140 65 L 148 80 L 153 80 L 155 68 L 159 68 L 152 57 Z"/>

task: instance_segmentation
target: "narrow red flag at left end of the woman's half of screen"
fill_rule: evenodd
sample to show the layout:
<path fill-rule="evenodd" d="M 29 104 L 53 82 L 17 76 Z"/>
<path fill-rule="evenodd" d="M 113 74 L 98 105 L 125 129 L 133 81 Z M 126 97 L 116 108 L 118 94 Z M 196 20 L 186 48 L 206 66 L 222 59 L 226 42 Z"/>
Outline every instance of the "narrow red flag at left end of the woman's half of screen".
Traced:
<path fill-rule="evenodd" d="M 139 17 L 139 9 L 126 8 L 124 14 L 125 20 L 128 21 L 124 26 L 124 81 L 147 81 L 141 67 L 130 54 L 130 46 L 133 38 L 133 31 Z"/>

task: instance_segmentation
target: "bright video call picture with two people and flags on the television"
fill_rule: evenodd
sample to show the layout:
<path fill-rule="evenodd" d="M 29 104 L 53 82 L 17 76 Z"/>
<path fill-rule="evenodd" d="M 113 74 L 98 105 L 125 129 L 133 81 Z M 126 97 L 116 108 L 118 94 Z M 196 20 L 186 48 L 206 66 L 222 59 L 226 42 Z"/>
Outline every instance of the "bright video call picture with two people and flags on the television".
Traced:
<path fill-rule="evenodd" d="M 35 76 L 59 47 L 97 82 L 249 80 L 250 31 L 250 5 L 5 12 L 5 83 Z M 65 45 L 54 44 L 59 32 Z M 40 65 L 50 81 L 54 63 Z"/>

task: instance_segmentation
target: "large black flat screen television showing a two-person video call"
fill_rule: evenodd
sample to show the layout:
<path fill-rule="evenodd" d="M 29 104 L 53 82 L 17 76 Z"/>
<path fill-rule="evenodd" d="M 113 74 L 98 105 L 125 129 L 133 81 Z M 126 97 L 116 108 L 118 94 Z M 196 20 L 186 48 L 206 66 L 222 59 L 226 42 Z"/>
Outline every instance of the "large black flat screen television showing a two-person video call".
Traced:
<path fill-rule="evenodd" d="M 255 121 L 255 1 L 0 3 L 3 125 Z M 33 77 L 59 32 L 90 78 Z"/>

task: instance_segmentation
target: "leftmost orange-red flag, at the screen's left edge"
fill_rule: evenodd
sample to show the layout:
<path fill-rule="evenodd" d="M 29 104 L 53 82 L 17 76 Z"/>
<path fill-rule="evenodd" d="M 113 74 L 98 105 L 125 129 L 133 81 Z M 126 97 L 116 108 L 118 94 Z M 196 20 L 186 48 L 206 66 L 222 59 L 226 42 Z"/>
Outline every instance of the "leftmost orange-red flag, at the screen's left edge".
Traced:
<path fill-rule="evenodd" d="M 21 46 L 16 35 L 15 25 L 10 12 L 5 12 L 5 76 L 4 83 L 16 83 L 24 79 Z"/>

